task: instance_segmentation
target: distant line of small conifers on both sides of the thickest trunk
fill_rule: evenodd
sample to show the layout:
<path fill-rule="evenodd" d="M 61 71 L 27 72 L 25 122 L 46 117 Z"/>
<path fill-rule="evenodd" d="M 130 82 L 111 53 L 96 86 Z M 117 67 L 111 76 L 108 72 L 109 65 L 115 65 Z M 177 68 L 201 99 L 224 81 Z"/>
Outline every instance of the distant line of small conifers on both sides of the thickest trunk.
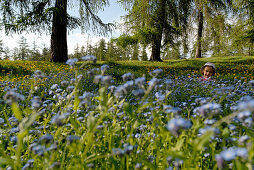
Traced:
<path fill-rule="evenodd" d="M 69 58 L 81 58 L 86 55 L 94 55 L 98 61 L 119 61 L 119 60 L 148 60 L 148 55 L 145 49 L 141 49 L 138 44 L 122 47 L 116 41 L 111 39 L 106 42 L 105 39 L 100 39 L 95 44 L 87 41 L 86 44 L 76 44 L 73 54 L 69 54 Z M 33 41 L 32 46 L 29 46 L 27 39 L 21 36 L 18 41 L 18 47 L 10 49 L 5 46 L 0 39 L 0 57 L 2 60 L 36 60 L 50 61 L 50 48 L 45 44 L 39 47 L 36 41 Z"/>

